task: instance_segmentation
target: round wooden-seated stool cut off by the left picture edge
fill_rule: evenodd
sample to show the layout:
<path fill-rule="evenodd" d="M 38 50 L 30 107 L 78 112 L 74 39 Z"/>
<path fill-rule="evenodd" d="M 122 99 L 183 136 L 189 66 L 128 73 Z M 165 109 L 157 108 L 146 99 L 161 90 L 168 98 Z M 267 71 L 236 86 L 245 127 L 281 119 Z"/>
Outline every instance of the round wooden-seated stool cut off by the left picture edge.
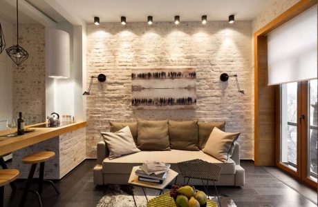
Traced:
<path fill-rule="evenodd" d="M 0 170 L 0 206 L 3 207 L 3 197 L 4 197 L 4 186 L 15 181 L 19 177 L 19 170 L 16 169 L 6 169 Z"/>

